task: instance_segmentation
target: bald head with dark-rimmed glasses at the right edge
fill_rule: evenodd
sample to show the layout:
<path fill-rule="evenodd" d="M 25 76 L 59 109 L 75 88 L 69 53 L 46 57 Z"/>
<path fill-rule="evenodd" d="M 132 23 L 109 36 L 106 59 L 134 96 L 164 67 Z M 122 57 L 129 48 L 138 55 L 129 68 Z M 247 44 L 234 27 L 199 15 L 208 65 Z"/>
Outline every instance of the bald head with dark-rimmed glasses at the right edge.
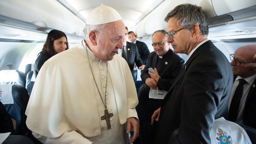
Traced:
<path fill-rule="evenodd" d="M 254 54 L 256 54 L 256 44 L 240 46 L 233 54 L 236 61 L 240 61 L 240 66 L 236 65 L 235 60 L 230 62 L 233 74 L 242 78 L 256 74 L 256 63 L 253 61 Z"/>

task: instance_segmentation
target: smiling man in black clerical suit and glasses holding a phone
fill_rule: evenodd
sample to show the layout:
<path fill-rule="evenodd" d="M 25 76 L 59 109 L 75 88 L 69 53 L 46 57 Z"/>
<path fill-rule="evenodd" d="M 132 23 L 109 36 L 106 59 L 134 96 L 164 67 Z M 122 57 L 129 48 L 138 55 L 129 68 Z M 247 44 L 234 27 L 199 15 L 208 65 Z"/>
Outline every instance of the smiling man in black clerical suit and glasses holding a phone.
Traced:
<path fill-rule="evenodd" d="M 141 71 L 141 79 L 146 85 L 141 88 L 136 107 L 140 120 L 141 144 L 153 143 L 156 125 L 151 125 L 151 116 L 161 106 L 164 93 L 171 88 L 184 65 L 184 60 L 170 49 L 165 30 L 153 33 L 152 46 L 154 52 L 148 55 L 147 64 Z M 148 71 L 148 68 L 153 68 L 155 73 Z"/>

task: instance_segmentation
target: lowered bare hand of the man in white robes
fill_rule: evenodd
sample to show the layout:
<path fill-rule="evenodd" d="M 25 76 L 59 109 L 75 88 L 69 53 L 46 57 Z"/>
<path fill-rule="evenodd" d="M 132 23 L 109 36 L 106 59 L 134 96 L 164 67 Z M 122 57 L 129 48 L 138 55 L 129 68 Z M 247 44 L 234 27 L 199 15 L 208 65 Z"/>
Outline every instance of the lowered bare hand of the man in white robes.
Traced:
<path fill-rule="evenodd" d="M 129 133 L 131 128 L 133 128 L 133 135 L 130 137 L 129 142 L 132 143 L 136 140 L 139 135 L 139 123 L 135 117 L 129 117 L 126 121 L 126 133 Z"/>

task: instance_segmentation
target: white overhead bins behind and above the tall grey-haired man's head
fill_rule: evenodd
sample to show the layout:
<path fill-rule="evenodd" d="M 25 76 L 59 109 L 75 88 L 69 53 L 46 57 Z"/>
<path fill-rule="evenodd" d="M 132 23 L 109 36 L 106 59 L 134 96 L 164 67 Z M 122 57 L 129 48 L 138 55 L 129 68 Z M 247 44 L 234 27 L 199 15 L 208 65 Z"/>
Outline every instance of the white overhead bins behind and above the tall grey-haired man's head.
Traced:
<path fill-rule="evenodd" d="M 170 10 L 174 9 L 175 6 L 183 3 L 191 3 L 191 0 L 165 0 L 142 21 L 140 21 L 140 23 L 133 27 L 132 31 L 136 32 L 138 37 L 144 37 L 152 34 L 156 30 L 166 30 L 167 23 L 164 21 L 165 16 Z M 256 0 L 194 0 L 191 4 L 201 6 L 208 18 L 212 18 L 254 6 L 256 5 Z M 228 18 L 229 21 L 232 20 L 229 16 L 226 18 Z"/>

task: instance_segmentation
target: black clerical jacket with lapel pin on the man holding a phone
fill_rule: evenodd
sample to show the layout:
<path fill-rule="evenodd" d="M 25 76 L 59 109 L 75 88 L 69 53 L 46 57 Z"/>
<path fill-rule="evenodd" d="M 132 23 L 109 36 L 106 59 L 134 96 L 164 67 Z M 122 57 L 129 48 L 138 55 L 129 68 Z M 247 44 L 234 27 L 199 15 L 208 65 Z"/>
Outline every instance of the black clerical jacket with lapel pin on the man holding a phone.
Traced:
<path fill-rule="evenodd" d="M 145 83 L 146 78 L 150 77 L 148 74 L 148 68 L 155 68 L 157 65 L 158 55 L 155 52 L 150 53 L 148 55 L 148 60 L 146 66 L 141 71 L 141 79 Z M 167 62 L 167 64 L 165 64 Z M 184 60 L 175 54 L 171 49 L 165 54 L 163 57 L 162 63 L 157 70 L 159 76 L 159 81 L 157 83 L 157 87 L 160 90 L 168 91 L 172 83 L 174 82 L 175 78 L 181 71 L 181 68 L 184 65 Z"/>

